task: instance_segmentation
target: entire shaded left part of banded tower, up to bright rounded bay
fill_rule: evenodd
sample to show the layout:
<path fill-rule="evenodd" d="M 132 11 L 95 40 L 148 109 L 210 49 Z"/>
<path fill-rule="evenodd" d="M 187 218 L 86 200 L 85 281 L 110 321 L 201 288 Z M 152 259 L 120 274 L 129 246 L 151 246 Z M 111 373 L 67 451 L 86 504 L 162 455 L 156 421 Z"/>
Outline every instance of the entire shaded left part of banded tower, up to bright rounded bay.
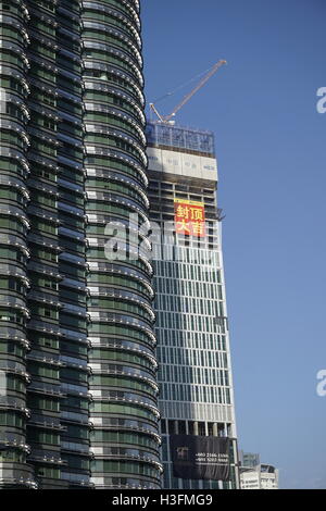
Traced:
<path fill-rule="evenodd" d="M 1 3 L 1 485 L 87 484 L 78 2 Z"/>

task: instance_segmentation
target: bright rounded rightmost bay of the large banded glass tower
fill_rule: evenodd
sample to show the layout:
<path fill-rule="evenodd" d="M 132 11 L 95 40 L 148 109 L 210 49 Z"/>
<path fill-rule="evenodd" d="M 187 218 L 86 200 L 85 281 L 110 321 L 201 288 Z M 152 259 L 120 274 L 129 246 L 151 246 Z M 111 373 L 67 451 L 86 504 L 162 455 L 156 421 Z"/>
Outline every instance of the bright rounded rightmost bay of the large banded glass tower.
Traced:
<path fill-rule="evenodd" d="M 152 269 L 138 254 L 149 205 L 138 1 L 84 1 L 83 28 L 91 479 L 98 488 L 158 488 Z M 113 223 L 128 238 L 121 234 L 127 251 L 114 257 L 105 253 Z"/>

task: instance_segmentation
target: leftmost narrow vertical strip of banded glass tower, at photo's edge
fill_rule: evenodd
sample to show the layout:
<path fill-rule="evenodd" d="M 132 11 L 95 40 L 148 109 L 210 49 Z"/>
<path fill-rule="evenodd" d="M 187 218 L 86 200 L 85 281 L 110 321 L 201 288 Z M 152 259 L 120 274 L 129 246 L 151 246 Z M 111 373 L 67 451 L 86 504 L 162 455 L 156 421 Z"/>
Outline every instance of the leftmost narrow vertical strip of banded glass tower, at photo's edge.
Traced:
<path fill-rule="evenodd" d="M 29 15 L 21 0 L 2 2 L 0 14 L 0 488 L 35 488 L 26 465 Z"/>

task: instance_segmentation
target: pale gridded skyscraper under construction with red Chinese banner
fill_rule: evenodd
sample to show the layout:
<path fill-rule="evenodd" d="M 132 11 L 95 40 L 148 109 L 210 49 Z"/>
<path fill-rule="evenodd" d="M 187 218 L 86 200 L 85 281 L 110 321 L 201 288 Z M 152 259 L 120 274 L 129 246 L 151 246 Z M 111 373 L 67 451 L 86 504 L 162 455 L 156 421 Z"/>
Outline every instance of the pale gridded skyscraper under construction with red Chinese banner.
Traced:
<path fill-rule="evenodd" d="M 163 487 L 238 488 L 214 137 L 209 132 L 150 122 L 147 140 Z M 218 439 L 221 444 L 229 439 L 230 472 L 225 481 L 201 477 L 200 470 L 192 479 L 175 474 L 172 444 L 176 435 L 184 443 L 178 451 L 184 469 L 191 445 L 204 446 L 214 437 L 218 446 Z M 216 451 L 210 456 L 208 465 Z"/>

